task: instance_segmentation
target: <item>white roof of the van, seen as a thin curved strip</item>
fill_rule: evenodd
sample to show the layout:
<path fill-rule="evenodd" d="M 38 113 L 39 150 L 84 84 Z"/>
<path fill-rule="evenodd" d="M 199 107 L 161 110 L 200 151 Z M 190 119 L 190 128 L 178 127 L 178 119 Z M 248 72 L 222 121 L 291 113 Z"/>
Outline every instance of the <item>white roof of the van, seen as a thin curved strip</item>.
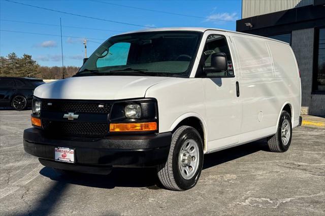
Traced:
<path fill-rule="evenodd" d="M 275 39 L 272 39 L 272 38 L 266 38 L 266 37 L 255 35 L 255 34 L 248 34 L 248 33 L 225 30 L 225 29 L 219 29 L 219 28 L 206 28 L 206 27 L 147 28 L 147 29 L 141 29 L 141 30 L 137 30 L 137 31 L 129 31 L 129 32 L 121 33 L 121 34 L 149 32 L 149 31 L 201 31 L 201 32 L 205 32 L 207 30 L 217 30 L 217 31 L 225 31 L 225 32 L 231 32 L 231 33 L 237 33 L 237 34 L 250 35 L 250 36 L 253 36 L 253 37 L 263 38 L 263 39 L 266 39 L 266 40 L 275 41 L 275 42 L 278 42 L 278 43 L 281 43 L 281 44 L 289 45 L 288 43 L 285 43 L 283 41 L 275 40 Z M 118 35 L 121 35 L 121 34 L 118 34 Z"/>

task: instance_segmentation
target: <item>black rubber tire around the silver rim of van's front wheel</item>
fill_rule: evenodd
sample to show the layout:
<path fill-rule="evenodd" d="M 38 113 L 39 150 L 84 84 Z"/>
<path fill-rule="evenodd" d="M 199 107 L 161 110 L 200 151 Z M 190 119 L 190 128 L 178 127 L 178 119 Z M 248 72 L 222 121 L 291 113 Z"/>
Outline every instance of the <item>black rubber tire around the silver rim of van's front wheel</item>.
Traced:
<path fill-rule="evenodd" d="M 180 151 L 185 141 L 194 140 L 197 142 L 198 147 L 198 168 L 193 171 L 193 176 L 190 179 L 185 179 L 179 168 Z M 195 160 L 195 159 L 194 159 Z M 193 127 L 181 126 L 172 136 L 171 147 L 168 155 L 167 162 L 158 166 L 158 178 L 160 183 L 169 190 L 184 191 L 194 187 L 200 177 L 203 166 L 203 141 L 199 132 Z"/>

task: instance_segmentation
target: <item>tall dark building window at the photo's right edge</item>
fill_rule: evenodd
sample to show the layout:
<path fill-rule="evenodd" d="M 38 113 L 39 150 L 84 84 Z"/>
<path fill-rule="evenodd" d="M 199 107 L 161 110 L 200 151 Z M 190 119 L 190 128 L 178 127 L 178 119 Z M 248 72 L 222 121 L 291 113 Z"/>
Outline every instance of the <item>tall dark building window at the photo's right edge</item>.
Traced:
<path fill-rule="evenodd" d="M 315 93 L 325 93 L 325 28 L 315 31 L 315 66 L 314 66 L 314 85 Z"/>

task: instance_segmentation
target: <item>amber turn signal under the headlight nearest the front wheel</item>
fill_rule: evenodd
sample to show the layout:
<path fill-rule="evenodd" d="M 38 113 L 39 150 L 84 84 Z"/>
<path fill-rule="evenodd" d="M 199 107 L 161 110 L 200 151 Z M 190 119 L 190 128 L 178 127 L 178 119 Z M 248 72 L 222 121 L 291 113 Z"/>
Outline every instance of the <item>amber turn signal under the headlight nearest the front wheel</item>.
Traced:
<path fill-rule="evenodd" d="M 143 123 L 111 123 L 110 132 L 154 131 L 157 130 L 156 122 Z"/>

